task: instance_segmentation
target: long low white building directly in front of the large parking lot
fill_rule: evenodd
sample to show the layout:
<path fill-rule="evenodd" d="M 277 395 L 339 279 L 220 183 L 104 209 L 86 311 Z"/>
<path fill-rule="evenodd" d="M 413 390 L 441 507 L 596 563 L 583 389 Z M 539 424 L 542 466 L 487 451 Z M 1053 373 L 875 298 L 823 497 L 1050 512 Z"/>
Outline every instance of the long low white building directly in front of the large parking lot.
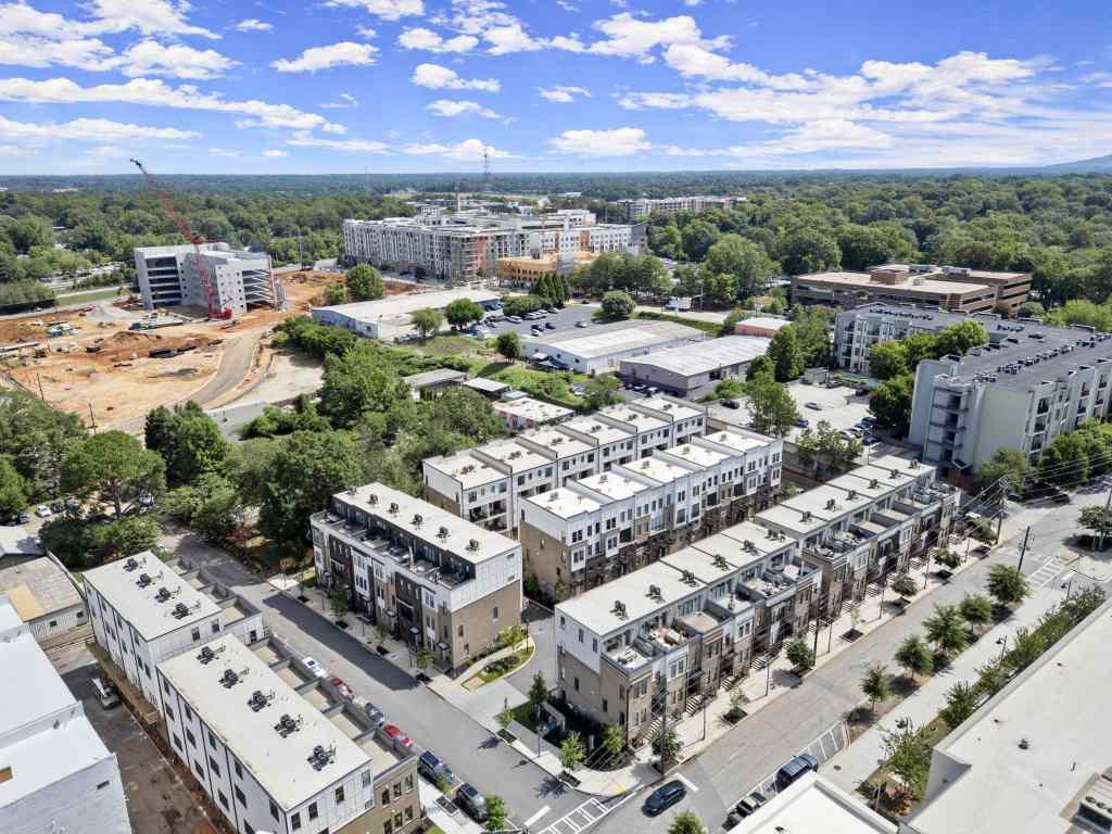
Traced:
<path fill-rule="evenodd" d="M 702 330 L 672 321 L 634 319 L 574 328 L 522 339 L 522 353 L 534 361 L 548 360 L 579 374 L 617 370 L 623 359 L 654 350 L 687 346 L 705 338 Z"/>

